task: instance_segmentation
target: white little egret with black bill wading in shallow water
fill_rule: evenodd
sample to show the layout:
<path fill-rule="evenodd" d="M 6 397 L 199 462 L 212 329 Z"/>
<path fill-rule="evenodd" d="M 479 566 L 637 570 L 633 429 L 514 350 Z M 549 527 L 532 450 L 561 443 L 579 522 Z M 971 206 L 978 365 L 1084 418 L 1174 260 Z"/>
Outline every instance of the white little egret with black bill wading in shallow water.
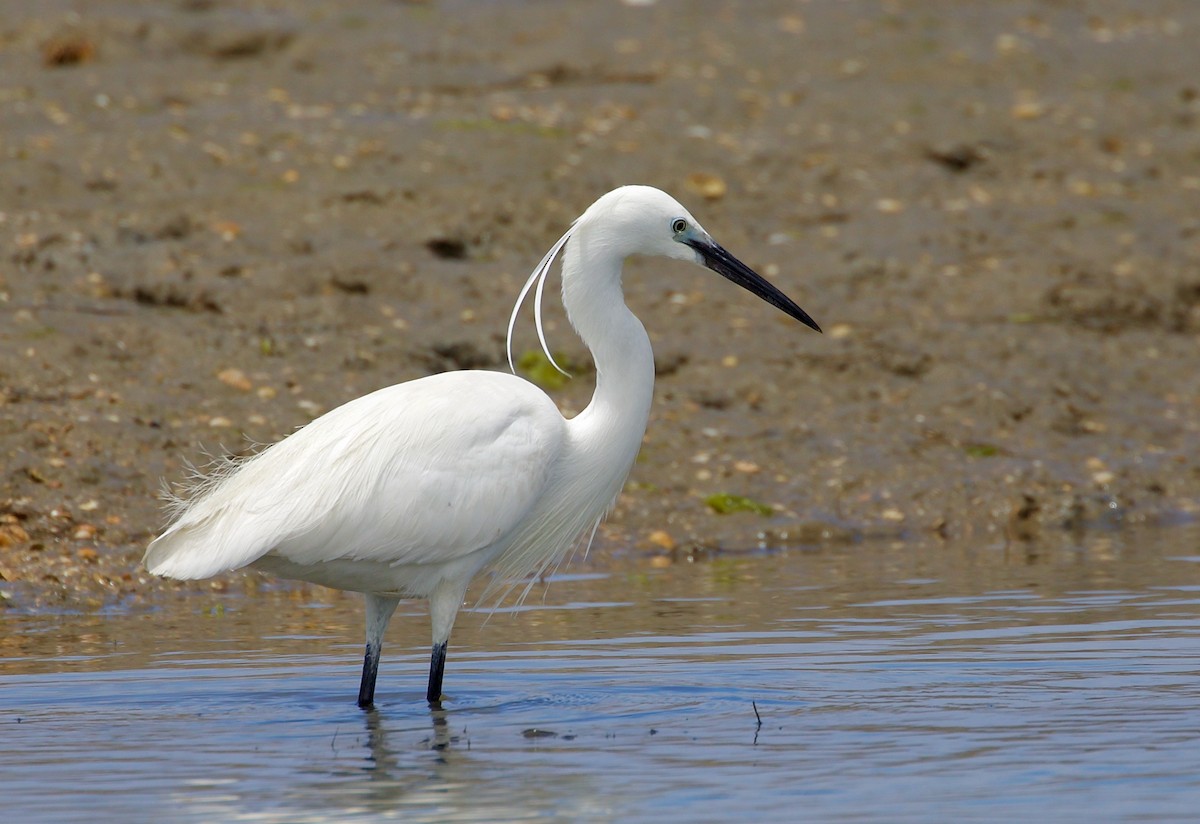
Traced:
<path fill-rule="evenodd" d="M 790 297 L 721 248 L 672 197 L 614 190 L 583 212 L 526 282 L 509 319 L 541 297 L 562 251 L 568 318 L 595 362 L 595 392 L 570 420 L 515 374 L 464 371 L 380 389 L 258 455 L 202 479 L 146 549 L 150 572 L 194 579 L 251 566 L 366 596 L 359 705 L 371 706 L 384 631 L 401 599 L 426 597 L 433 624 L 427 700 L 442 700 L 446 644 L 467 584 L 541 575 L 617 499 L 642 444 L 654 355 L 625 306 L 631 254 L 701 264 L 821 331 Z M 553 362 L 553 359 L 551 359 Z"/>

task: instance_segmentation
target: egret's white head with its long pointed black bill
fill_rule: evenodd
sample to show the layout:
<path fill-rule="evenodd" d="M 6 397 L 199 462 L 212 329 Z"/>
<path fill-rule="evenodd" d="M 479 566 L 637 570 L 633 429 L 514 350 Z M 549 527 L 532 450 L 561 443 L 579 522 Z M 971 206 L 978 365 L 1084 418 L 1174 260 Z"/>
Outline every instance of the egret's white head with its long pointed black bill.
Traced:
<path fill-rule="evenodd" d="M 622 186 L 583 212 L 577 228 L 594 227 L 588 241 L 624 254 L 658 254 L 712 269 L 772 306 L 821 331 L 816 321 L 769 281 L 730 254 L 704 227 L 666 192 L 650 186 Z"/>

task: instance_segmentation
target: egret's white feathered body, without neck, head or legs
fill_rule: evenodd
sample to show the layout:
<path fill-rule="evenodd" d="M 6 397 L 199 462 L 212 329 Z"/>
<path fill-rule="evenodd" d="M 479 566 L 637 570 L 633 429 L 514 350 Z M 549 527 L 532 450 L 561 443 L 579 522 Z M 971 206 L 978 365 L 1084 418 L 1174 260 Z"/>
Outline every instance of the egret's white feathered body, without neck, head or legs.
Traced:
<path fill-rule="evenodd" d="M 588 438 L 593 417 L 566 421 L 540 389 L 498 372 L 389 386 L 242 464 L 155 540 L 146 566 L 208 578 L 253 565 L 401 597 L 428 597 L 493 561 L 536 571 L 553 559 L 530 545 L 574 546 L 637 455 L 644 410 L 636 432 L 604 444 Z"/>

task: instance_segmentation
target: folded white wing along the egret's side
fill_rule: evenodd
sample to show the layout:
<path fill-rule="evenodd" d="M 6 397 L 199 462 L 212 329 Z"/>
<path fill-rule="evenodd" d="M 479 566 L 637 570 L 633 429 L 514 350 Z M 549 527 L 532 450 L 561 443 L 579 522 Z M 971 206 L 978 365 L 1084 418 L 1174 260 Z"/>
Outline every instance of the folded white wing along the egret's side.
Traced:
<path fill-rule="evenodd" d="M 144 563 L 206 578 L 269 552 L 296 564 L 452 561 L 521 523 L 564 440 L 553 402 L 512 375 L 451 372 L 382 389 L 206 485 Z"/>

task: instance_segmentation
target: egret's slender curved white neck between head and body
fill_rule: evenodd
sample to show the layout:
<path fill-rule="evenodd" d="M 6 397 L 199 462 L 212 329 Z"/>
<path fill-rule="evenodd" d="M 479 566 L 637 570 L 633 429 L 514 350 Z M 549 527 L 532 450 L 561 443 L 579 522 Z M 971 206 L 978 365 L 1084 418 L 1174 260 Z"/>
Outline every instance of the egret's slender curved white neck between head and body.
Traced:
<path fill-rule="evenodd" d="M 596 367 L 592 403 L 576 420 L 594 420 L 608 437 L 629 440 L 636 455 L 654 397 L 654 351 L 642 323 L 625 306 L 624 258 L 588 240 L 581 227 L 563 251 L 563 306 Z"/>

